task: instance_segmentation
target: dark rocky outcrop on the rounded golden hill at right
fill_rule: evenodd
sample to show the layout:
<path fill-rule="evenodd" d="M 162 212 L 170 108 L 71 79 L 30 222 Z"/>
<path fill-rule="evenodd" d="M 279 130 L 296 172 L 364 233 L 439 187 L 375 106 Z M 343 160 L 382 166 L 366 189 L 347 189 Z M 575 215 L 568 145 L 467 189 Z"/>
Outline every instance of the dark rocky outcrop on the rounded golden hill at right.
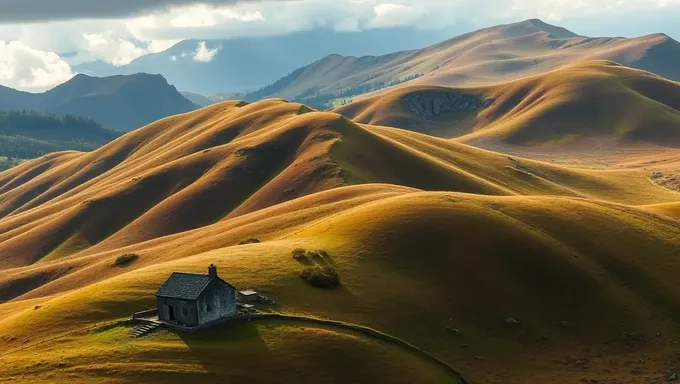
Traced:
<path fill-rule="evenodd" d="M 431 119 L 442 113 L 472 112 L 486 108 L 493 104 L 494 100 L 463 93 L 424 91 L 413 92 L 404 96 L 403 102 L 407 112 L 424 119 Z"/>

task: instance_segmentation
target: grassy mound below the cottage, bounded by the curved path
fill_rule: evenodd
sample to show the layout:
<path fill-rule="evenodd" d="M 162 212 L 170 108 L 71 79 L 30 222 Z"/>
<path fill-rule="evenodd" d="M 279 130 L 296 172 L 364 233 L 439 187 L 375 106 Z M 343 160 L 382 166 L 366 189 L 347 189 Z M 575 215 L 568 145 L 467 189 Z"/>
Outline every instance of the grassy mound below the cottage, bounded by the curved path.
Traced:
<path fill-rule="evenodd" d="M 58 349 L 48 343 L 40 357 L 25 351 L 0 357 L 0 375 L 15 383 L 50 383 L 64 375 L 73 383 L 459 383 L 410 351 L 305 323 L 161 331 L 139 340 L 130 332 L 119 326 L 63 340 Z"/>

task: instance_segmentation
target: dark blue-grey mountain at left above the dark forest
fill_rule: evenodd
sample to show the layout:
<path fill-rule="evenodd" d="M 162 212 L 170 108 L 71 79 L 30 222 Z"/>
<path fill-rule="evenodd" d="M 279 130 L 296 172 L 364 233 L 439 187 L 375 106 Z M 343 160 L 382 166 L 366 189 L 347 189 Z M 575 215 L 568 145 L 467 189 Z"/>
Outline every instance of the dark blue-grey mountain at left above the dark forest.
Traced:
<path fill-rule="evenodd" d="M 125 131 L 196 108 L 162 76 L 141 73 L 105 78 L 76 75 L 40 94 L 0 89 L 0 111 L 84 116 Z"/>

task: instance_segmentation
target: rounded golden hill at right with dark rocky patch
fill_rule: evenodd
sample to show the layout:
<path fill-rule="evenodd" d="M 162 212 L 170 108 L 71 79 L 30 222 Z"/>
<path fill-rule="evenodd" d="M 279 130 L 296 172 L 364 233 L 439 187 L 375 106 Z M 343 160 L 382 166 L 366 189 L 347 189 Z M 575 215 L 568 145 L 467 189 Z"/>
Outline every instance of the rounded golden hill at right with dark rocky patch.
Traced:
<path fill-rule="evenodd" d="M 447 95 L 489 100 L 488 107 L 422 116 Z M 613 62 L 591 61 L 479 88 L 417 86 L 339 108 L 359 123 L 457 137 L 480 146 L 565 147 L 579 141 L 680 146 L 680 84 Z"/>

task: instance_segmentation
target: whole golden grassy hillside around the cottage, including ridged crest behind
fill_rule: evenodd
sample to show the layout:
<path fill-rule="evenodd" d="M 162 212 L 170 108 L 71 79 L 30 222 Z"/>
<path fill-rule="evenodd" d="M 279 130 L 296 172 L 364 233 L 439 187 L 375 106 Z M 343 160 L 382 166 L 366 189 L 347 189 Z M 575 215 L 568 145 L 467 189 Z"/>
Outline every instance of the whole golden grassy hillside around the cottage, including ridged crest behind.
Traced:
<path fill-rule="evenodd" d="M 0 174 L 0 377 L 665 380 L 680 337 L 680 195 L 648 176 L 280 99 L 168 117 Z M 300 279 L 296 248 L 327 251 L 340 287 Z M 124 253 L 139 258 L 118 265 Z M 210 263 L 294 320 L 129 338 L 122 320 L 154 305 L 171 272 Z"/>

